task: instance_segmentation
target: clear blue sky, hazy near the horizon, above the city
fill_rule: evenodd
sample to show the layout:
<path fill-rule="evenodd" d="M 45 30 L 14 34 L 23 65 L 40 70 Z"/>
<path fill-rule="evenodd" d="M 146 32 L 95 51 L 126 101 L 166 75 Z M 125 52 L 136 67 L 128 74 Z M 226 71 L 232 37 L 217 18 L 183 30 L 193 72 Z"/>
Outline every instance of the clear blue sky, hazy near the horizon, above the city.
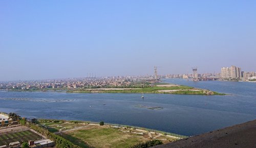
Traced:
<path fill-rule="evenodd" d="M 0 81 L 256 71 L 256 1 L 0 1 Z"/>

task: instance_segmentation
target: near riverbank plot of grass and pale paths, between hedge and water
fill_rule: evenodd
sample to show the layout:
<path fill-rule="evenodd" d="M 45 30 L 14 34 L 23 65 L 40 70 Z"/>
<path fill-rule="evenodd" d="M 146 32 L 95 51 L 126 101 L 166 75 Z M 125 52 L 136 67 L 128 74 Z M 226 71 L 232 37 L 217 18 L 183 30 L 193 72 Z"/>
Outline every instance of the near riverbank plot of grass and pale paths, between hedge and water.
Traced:
<path fill-rule="evenodd" d="M 99 122 L 38 119 L 37 126 L 48 129 L 81 147 L 131 147 L 148 140 L 162 143 L 177 141 L 186 136 L 117 124 Z"/>

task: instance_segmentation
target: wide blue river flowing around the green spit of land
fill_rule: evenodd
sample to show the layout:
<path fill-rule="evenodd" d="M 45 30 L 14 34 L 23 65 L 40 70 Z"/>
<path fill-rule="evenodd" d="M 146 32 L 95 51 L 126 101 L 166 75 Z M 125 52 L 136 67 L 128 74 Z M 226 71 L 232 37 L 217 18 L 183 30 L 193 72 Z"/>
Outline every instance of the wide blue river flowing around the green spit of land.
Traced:
<path fill-rule="evenodd" d="M 104 121 L 196 135 L 256 118 L 256 83 L 166 79 L 230 95 L 0 91 L 0 112 L 35 118 Z M 161 110 L 136 105 L 163 107 Z"/>

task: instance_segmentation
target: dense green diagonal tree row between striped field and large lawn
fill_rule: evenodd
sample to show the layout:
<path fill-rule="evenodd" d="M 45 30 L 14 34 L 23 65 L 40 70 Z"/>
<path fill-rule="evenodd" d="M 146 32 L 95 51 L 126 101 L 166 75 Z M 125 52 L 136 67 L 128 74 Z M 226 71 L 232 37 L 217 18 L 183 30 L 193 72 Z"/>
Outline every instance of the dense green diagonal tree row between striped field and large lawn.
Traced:
<path fill-rule="evenodd" d="M 59 135 L 55 135 L 55 134 L 49 132 L 47 129 L 44 129 L 42 127 L 36 126 L 35 124 L 32 124 L 31 122 L 27 122 L 27 126 L 31 129 L 35 130 L 36 132 L 46 136 L 47 138 L 55 141 L 56 147 L 58 147 L 58 148 L 62 148 L 62 147 L 63 148 L 78 148 L 78 147 L 80 147 Z"/>

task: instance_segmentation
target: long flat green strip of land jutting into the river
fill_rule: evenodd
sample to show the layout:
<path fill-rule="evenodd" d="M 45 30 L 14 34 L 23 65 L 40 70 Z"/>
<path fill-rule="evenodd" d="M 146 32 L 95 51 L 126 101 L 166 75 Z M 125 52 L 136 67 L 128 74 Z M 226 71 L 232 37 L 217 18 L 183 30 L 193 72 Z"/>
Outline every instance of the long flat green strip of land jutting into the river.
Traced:
<path fill-rule="evenodd" d="M 130 86 L 106 86 L 106 87 L 84 87 L 84 88 L 44 88 L 44 89 L 9 89 L 7 91 L 41 91 L 41 92 L 67 92 L 67 93 L 161 93 L 161 94 L 201 94 L 201 95 L 226 95 L 211 91 L 208 89 L 200 89 L 190 86 L 169 84 L 169 83 L 153 83 L 151 85 L 130 85 Z"/>

